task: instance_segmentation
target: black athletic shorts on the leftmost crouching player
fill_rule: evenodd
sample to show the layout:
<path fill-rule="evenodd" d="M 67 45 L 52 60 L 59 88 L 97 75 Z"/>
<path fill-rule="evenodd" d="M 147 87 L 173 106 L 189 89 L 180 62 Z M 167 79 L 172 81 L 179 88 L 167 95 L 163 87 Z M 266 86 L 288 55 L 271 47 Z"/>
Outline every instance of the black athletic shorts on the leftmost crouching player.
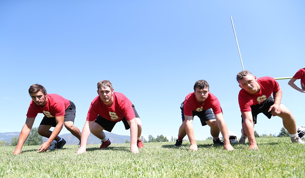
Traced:
<path fill-rule="evenodd" d="M 65 110 L 65 119 L 66 121 L 72 121 L 74 123 L 76 108 L 72 101 L 70 101 L 70 106 Z M 52 127 L 56 127 L 57 123 L 55 117 L 43 117 L 40 125 L 52 125 Z"/>

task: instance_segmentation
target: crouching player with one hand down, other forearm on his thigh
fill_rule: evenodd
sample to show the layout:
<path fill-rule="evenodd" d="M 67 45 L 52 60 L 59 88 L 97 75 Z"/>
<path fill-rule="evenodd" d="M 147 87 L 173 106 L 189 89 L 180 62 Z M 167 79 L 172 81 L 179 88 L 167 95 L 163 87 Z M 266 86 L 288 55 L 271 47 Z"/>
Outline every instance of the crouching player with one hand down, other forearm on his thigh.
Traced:
<path fill-rule="evenodd" d="M 298 136 L 296 121 L 292 113 L 281 103 L 282 89 L 274 78 L 257 78 L 249 71 L 242 71 L 237 74 L 236 80 L 239 83 L 239 87 L 242 88 L 238 95 L 239 107 L 242 113 L 242 137 L 239 143 L 245 143 L 248 137 L 248 149 L 258 149 L 253 127 L 257 122 L 257 115 L 264 113 L 269 119 L 272 116 L 281 117 L 291 142 L 305 144 Z"/>

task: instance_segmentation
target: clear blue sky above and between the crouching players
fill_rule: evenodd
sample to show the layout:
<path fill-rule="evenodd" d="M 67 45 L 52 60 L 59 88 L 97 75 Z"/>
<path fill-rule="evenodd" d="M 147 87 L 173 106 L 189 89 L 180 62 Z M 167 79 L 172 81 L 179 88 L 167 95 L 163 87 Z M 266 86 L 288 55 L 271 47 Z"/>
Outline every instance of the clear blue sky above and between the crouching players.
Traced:
<path fill-rule="evenodd" d="M 82 130 L 97 82 L 110 80 L 135 105 L 145 138 L 177 137 L 180 104 L 205 79 L 239 137 L 235 78 L 242 66 L 230 16 L 244 68 L 291 77 L 305 66 L 304 8 L 303 1 L 1 1 L 0 132 L 21 131 L 34 83 L 73 101 Z M 278 82 L 282 103 L 305 126 L 305 95 Z M 278 134 L 282 127 L 281 118 L 259 115 L 255 130 Z M 210 136 L 198 117 L 194 132 L 196 140 Z M 130 131 L 118 123 L 112 133 Z"/>

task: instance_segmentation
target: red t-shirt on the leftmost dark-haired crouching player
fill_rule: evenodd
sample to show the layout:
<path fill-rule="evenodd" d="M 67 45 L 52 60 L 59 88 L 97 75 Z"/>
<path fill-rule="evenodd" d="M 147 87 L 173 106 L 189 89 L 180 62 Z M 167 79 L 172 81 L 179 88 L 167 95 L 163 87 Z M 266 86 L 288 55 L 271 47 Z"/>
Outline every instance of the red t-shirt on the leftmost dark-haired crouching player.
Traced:
<path fill-rule="evenodd" d="M 48 102 L 44 107 L 37 105 L 33 100 L 27 110 L 27 117 L 36 117 L 43 113 L 46 117 L 64 116 L 70 101 L 57 94 L 47 94 Z"/>

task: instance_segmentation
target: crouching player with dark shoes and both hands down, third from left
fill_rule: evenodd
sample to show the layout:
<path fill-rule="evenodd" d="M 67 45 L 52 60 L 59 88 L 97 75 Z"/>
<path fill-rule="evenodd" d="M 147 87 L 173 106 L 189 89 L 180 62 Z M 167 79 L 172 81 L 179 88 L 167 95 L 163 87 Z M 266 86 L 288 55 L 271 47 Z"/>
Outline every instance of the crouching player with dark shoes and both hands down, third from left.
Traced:
<path fill-rule="evenodd" d="M 182 145 L 185 135 L 191 143 L 190 150 L 197 151 L 198 146 L 194 137 L 193 118 L 198 116 L 202 126 L 209 125 L 213 143 L 224 146 L 225 150 L 233 150 L 229 142 L 228 128 L 224 122 L 224 116 L 219 100 L 210 93 L 210 86 L 205 80 L 198 80 L 194 85 L 194 92 L 185 97 L 181 103 L 182 124 L 179 128 L 178 139 L 175 147 Z M 211 108 L 213 112 L 211 111 Z M 223 135 L 224 142 L 219 139 L 219 132 Z"/>

